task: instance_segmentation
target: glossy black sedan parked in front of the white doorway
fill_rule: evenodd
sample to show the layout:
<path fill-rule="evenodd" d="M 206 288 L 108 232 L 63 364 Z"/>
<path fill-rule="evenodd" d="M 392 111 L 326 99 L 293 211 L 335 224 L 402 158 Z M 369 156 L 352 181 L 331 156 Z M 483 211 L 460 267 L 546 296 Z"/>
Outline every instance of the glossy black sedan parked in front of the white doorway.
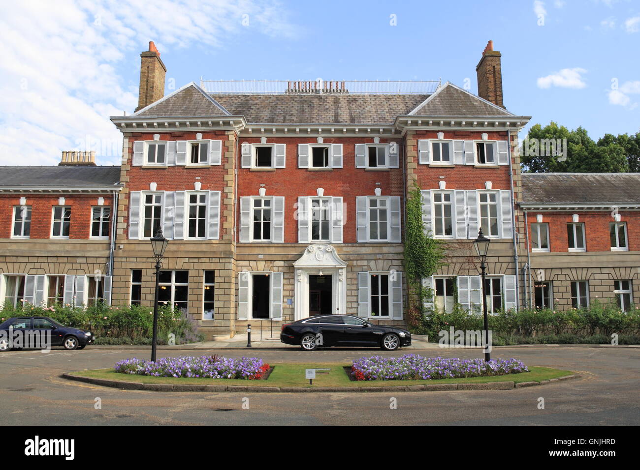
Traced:
<path fill-rule="evenodd" d="M 411 344 L 411 333 L 395 326 L 373 325 L 353 315 L 319 315 L 282 325 L 280 341 L 305 351 L 325 346 L 381 347 L 393 351 Z"/>

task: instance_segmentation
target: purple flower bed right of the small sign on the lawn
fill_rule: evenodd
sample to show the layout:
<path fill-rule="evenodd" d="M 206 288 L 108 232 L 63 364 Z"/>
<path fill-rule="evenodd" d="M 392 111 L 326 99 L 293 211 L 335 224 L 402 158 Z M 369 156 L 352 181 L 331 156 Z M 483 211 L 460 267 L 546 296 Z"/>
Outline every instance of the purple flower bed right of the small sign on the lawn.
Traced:
<path fill-rule="evenodd" d="M 355 380 L 458 379 L 518 372 L 529 372 L 529 369 L 517 359 L 492 359 L 487 363 L 484 359 L 445 359 L 417 354 L 362 357 L 351 365 Z"/>

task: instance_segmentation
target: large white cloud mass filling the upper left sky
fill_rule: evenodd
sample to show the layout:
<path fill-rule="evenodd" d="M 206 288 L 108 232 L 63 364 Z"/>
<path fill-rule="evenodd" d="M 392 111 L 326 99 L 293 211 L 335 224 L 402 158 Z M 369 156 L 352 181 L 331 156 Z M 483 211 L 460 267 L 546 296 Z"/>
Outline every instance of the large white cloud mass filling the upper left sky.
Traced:
<path fill-rule="evenodd" d="M 120 132 L 109 116 L 138 104 L 139 53 L 220 47 L 248 27 L 294 36 L 276 0 L 33 0 L 0 17 L 0 165 L 56 164 L 61 150 L 97 150 L 119 164 Z M 248 17 L 243 17 L 248 15 Z M 197 70 L 193 70 L 197 74 Z M 89 148 L 85 148 L 85 142 Z"/>

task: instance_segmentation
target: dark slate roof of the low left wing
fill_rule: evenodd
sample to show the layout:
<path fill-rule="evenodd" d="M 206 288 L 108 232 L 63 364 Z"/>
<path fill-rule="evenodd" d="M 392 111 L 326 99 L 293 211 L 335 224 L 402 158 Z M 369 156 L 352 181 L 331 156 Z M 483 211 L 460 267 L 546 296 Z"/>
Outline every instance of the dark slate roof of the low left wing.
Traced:
<path fill-rule="evenodd" d="M 2 166 L 0 189 L 106 188 L 120 182 L 120 166 Z"/>

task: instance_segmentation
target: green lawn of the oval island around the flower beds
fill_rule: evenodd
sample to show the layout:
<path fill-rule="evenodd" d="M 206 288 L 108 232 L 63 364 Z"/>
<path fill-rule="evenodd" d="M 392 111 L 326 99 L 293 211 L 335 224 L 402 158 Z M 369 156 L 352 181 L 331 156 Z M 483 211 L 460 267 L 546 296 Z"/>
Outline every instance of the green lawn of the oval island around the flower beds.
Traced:
<path fill-rule="evenodd" d="M 468 379 L 442 380 L 358 380 L 351 381 L 344 372 L 345 363 L 308 363 L 308 364 L 272 364 L 275 366 L 267 380 L 241 379 L 198 379 L 182 377 L 149 377 L 146 375 L 129 375 L 116 373 L 113 369 L 83 370 L 73 372 L 72 375 L 92 377 L 93 379 L 109 379 L 143 384 L 198 384 L 198 385 L 240 385 L 263 387 L 388 387 L 424 384 L 483 384 L 486 382 L 540 382 L 541 380 L 556 379 L 563 375 L 571 375 L 570 370 L 558 370 L 548 367 L 531 367 L 531 372 L 511 373 L 508 375 L 494 375 L 492 377 L 470 377 Z M 313 385 L 305 379 L 305 369 L 330 368 L 328 373 L 316 372 Z"/>

